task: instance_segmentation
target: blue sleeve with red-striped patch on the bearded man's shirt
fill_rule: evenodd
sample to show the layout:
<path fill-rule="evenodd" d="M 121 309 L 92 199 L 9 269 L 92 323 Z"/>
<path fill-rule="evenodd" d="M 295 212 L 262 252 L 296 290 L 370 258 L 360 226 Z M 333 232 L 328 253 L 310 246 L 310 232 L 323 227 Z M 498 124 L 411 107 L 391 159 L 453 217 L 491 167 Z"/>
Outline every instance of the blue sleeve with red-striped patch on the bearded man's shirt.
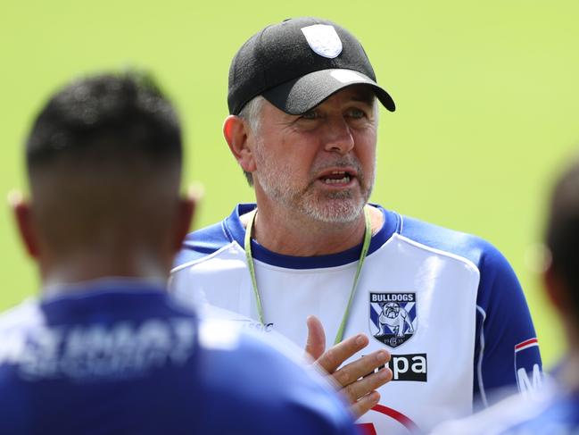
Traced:
<path fill-rule="evenodd" d="M 479 261 L 474 385 L 483 406 L 493 401 L 491 390 L 536 388 L 542 372 L 523 289 L 504 256 L 486 245 Z"/>

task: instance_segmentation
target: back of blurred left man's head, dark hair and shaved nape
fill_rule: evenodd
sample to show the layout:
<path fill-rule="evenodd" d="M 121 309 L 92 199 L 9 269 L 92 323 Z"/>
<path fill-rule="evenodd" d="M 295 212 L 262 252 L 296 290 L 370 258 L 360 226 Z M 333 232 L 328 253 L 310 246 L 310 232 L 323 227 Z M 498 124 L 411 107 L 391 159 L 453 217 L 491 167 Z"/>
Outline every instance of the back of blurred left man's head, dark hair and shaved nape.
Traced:
<path fill-rule="evenodd" d="M 102 74 L 42 108 L 26 156 L 38 237 L 56 255 L 161 243 L 178 198 L 178 117 L 146 74 Z"/>

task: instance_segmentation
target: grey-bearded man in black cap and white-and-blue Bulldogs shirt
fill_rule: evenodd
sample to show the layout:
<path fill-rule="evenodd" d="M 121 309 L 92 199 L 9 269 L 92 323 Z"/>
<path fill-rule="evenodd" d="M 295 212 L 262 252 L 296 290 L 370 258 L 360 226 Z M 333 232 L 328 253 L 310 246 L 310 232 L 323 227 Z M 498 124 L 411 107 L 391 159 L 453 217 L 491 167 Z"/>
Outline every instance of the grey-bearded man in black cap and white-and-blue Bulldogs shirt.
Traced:
<path fill-rule="evenodd" d="M 359 420 L 368 433 L 425 431 L 540 371 L 541 359 L 494 247 L 368 205 L 378 101 L 394 111 L 360 42 L 333 22 L 294 19 L 250 38 L 231 64 L 223 130 L 257 206 L 186 238 L 172 288 L 305 344 L 356 414 L 372 408 Z M 324 353 L 324 333 L 338 343 L 362 332 L 372 337 L 347 367 L 380 367 L 392 352 L 379 403 L 359 377 L 335 372 L 334 349 Z"/>

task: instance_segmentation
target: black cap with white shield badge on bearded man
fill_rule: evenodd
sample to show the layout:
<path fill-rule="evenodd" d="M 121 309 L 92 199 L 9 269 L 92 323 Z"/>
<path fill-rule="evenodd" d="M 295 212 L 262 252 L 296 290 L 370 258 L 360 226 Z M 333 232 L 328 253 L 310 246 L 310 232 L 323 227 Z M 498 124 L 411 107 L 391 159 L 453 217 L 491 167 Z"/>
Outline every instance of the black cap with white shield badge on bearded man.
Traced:
<path fill-rule="evenodd" d="M 376 83 L 364 48 L 337 24 L 303 17 L 275 24 L 249 38 L 229 68 L 229 113 L 255 96 L 290 114 L 302 114 L 338 90 L 364 84 L 393 112 L 391 96 Z"/>

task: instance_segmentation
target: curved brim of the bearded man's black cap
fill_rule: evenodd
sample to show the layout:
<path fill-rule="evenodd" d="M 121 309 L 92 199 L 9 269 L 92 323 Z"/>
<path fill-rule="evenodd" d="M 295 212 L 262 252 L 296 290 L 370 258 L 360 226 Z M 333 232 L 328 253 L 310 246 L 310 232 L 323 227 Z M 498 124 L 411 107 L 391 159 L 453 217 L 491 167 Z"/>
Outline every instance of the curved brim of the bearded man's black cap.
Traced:
<path fill-rule="evenodd" d="M 368 85 L 376 97 L 390 112 L 396 105 L 392 96 L 380 88 L 376 81 L 358 71 L 352 70 L 320 70 L 310 72 L 299 79 L 286 81 L 276 88 L 263 92 L 263 96 L 285 113 L 299 115 L 316 107 L 327 97 L 337 91 L 352 85 Z"/>

